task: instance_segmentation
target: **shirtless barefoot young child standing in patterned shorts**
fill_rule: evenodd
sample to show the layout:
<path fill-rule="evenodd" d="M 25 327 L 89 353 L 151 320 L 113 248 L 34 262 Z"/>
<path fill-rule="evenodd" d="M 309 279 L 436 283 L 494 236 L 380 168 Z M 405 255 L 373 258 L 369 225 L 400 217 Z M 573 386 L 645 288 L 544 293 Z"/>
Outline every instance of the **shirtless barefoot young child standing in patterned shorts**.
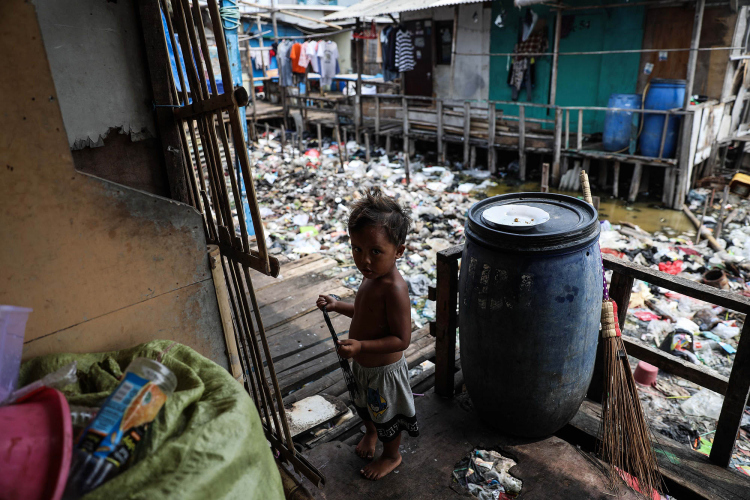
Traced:
<path fill-rule="evenodd" d="M 396 260 L 404 255 L 411 219 L 392 198 L 377 188 L 365 192 L 349 216 L 349 237 L 357 269 L 364 275 L 354 305 L 330 295 L 317 306 L 352 318 L 349 339 L 339 342 L 339 354 L 353 358 L 352 372 L 359 394 L 354 401 L 365 422 L 357 455 L 371 459 L 375 444 L 383 454 L 362 474 L 380 479 L 401 463 L 401 431 L 419 435 L 414 398 L 404 351 L 411 342 L 409 289 Z"/>

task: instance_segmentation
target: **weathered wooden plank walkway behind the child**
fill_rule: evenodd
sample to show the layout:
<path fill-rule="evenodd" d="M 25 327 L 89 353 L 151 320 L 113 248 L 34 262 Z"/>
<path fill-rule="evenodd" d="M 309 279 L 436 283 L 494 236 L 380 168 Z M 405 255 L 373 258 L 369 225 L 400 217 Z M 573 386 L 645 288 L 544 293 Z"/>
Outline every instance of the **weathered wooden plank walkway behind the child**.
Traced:
<path fill-rule="evenodd" d="M 315 254 L 282 265 L 278 278 L 251 274 L 285 405 L 316 394 L 350 403 L 331 334 L 315 301 L 320 294 L 335 294 L 353 302 L 354 291 L 344 286 L 343 280 L 354 272 L 342 272 L 335 260 Z M 334 313 L 331 322 L 341 339 L 348 338 L 350 318 Z M 435 339 L 428 327 L 412 333 L 405 355 L 409 368 L 434 357 Z M 412 380 L 412 385 L 431 378 L 433 373 L 423 373 Z M 331 429 L 329 435 L 318 436 L 314 442 L 327 440 L 321 437 L 340 436 L 358 422 L 355 417 L 346 426 Z"/>

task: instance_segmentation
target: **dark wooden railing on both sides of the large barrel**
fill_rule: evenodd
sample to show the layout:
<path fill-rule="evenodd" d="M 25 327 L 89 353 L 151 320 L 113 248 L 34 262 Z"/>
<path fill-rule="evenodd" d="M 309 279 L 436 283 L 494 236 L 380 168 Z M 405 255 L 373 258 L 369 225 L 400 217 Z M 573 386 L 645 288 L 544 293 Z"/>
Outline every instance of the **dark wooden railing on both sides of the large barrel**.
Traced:
<path fill-rule="evenodd" d="M 437 312 L 430 330 L 436 337 L 435 392 L 444 397 L 452 397 L 454 391 L 458 268 L 462 252 L 463 245 L 438 252 L 437 285 L 430 289 L 430 298 L 436 301 Z M 604 267 L 613 271 L 609 293 L 617 304 L 621 305 L 618 318 L 621 328 L 625 325 L 627 304 L 630 302 L 630 292 L 636 279 L 733 311 L 750 313 L 750 299 L 743 295 L 654 271 L 607 254 L 602 257 Z M 750 392 L 750 321 L 746 320 L 742 328 L 729 378 L 702 365 L 688 363 L 638 339 L 626 336 L 622 339 L 629 355 L 724 396 L 709 459 L 714 464 L 727 467 Z M 592 399 L 600 400 L 601 376 L 597 378 L 596 374 L 594 375 L 588 395 Z"/>

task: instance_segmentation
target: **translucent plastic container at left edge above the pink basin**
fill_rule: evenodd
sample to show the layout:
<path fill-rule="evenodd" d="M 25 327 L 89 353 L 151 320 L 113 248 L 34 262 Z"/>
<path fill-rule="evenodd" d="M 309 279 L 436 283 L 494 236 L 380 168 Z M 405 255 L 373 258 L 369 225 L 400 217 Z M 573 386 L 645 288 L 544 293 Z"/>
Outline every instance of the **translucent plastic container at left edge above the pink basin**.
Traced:
<path fill-rule="evenodd" d="M 23 336 L 32 309 L 0 306 L 0 403 L 16 390 Z"/>

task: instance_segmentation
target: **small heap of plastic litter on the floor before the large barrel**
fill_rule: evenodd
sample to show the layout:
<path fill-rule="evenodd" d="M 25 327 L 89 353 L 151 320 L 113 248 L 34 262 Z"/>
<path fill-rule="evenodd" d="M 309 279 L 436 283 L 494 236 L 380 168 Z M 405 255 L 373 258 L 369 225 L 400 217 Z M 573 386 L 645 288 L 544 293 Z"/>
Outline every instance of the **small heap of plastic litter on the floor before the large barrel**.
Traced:
<path fill-rule="evenodd" d="M 523 484 L 509 472 L 514 465 L 494 450 L 474 450 L 455 465 L 453 480 L 480 500 L 515 498 Z"/>

